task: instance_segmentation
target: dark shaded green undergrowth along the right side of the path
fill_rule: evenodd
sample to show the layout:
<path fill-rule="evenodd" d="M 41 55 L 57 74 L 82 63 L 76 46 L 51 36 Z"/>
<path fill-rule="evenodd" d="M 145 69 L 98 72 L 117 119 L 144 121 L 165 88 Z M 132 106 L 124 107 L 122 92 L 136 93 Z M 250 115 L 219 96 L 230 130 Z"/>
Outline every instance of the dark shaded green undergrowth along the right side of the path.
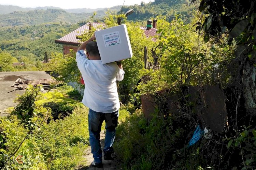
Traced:
<path fill-rule="evenodd" d="M 128 116 L 117 126 L 114 149 L 123 168 L 255 168 L 255 129 L 244 126 L 245 130 L 238 137 L 225 139 L 224 135 L 212 132 L 210 139 L 202 137 L 188 147 L 195 130 L 194 119 L 188 115 L 158 114 L 154 113 L 151 120 L 145 120 L 142 111 L 136 110 L 132 115 L 127 113 Z"/>

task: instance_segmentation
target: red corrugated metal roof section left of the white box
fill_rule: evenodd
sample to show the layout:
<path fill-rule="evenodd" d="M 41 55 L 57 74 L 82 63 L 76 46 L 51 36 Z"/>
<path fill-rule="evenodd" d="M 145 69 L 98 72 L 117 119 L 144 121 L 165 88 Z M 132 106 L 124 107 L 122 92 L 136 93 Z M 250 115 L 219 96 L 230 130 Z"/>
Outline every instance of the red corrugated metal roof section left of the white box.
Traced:
<path fill-rule="evenodd" d="M 91 26 L 99 30 L 106 27 L 104 23 L 98 22 L 91 22 Z M 84 34 L 86 30 L 89 30 L 89 22 L 58 40 L 55 40 L 55 43 L 79 45 L 81 41 L 77 39 L 76 36 Z"/>

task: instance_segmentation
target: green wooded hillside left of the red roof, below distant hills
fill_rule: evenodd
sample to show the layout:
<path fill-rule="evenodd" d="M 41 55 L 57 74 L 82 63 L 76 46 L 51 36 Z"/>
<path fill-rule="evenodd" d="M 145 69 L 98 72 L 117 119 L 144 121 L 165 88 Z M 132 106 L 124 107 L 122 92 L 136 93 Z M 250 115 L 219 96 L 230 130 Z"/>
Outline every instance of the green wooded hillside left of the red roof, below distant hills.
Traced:
<path fill-rule="evenodd" d="M 54 40 L 72 32 L 79 25 L 50 24 L 48 26 L 0 28 L 0 49 L 19 61 L 42 60 L 44 53 L 62 52 L 62 45 Z"/>

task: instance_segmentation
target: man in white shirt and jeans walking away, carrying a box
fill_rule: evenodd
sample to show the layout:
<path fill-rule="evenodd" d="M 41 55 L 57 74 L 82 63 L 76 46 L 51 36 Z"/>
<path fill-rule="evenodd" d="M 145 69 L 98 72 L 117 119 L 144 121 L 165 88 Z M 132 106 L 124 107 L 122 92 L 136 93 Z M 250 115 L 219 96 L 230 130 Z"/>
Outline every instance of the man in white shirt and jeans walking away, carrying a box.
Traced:
<path fill-rule="evenodd" d="M 112 145 L 119 116 L 119 98 L 116 81 L 124 79 L 121 62 L 102 64 L 95 35 L 84 42 L 77 50 L 76 62 L 85 82 L 82 103 L 89 108 L 89 142 L 94 167 L 102 167 L 100 131 L 105 120 L 104 159 L 112 160 Z"/>

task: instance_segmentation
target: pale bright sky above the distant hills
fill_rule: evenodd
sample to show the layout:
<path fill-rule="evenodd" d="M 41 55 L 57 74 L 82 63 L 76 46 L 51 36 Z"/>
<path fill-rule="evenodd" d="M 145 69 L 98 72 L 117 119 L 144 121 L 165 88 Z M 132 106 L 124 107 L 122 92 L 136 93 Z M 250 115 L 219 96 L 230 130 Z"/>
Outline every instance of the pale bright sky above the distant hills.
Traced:
<path fill-rule="evenodd" d="M 148 3 L 150 0 L 125 0 L 125 5 Z M 154 0 L 151 0 L 152 2 Z M 124 0 L 0 0 L 1 5 L 16 5 L 20 7 L 55 6 L 62 9 L 73 8 L 104 8 L 123 5 Z"/>

